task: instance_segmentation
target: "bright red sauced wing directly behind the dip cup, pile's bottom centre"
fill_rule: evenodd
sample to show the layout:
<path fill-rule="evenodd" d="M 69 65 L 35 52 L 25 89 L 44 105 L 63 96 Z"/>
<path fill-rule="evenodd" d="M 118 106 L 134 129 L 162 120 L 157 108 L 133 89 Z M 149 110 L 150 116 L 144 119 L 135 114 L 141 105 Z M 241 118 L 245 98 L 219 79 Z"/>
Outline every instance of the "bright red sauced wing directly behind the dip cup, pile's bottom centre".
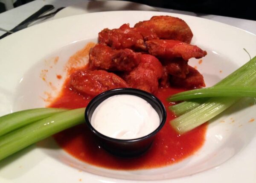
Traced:
<path fill-rule="evenodd" d="M 163 75 L 163 66 L 160 61 L 152 55 L 142 55 L 140 64 L 125 77 L 125 81 L 132 88 L 156 93 L 158 79 Z"/>

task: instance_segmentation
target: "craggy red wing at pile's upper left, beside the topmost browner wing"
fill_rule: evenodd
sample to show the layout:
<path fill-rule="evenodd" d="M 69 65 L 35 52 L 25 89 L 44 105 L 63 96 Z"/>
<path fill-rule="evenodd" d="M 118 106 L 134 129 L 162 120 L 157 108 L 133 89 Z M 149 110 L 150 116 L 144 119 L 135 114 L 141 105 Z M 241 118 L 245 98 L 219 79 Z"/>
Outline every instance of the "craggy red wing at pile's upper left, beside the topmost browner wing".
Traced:
<path fill-rule="evenodd" d="M 99 32 L 99 43 L 107 44 L 113 49 L 145 51 L 145 41 L 157 38 L 150 30 L 130 28 L 129 24 L 123 24 L 119 29 L 103 29 Z"/>

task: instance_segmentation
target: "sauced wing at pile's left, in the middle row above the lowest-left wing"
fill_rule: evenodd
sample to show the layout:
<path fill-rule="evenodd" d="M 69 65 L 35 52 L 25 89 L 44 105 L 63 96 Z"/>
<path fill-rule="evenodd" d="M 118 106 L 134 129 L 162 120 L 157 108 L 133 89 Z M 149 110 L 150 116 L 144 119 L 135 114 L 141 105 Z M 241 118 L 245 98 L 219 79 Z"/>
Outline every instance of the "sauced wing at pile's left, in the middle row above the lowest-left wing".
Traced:
<path fill-rule="evenodd" d="M 105 44 L 96 44 L 89 53 L 90 69 L 131 71 L 140 62 L 141 53 L 131 49 L 114 50 Z"/>

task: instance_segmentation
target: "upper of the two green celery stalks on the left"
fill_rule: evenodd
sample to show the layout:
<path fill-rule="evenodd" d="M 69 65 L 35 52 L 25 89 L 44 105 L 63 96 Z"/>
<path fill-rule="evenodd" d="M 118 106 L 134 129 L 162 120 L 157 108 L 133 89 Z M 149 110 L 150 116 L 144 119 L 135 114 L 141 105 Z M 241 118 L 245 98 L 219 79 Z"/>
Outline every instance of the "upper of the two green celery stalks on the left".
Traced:
<path fill-rule="evenodd" d="M 22 110 L 0 117 L 0 136 L 26 126 L 32 122 L 49 117 L 55 113 L 66 111 L 58 108 L 37 108 Z"/>

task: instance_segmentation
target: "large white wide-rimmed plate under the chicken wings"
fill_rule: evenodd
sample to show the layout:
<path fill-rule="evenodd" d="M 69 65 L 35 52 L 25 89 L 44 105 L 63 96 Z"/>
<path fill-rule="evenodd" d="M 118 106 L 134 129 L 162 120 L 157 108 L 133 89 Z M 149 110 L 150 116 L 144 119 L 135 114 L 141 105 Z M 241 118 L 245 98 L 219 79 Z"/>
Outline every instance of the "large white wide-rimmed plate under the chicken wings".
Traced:
<path fill-rule="evenodd" d="M 172 15 L 189 24 L 194 33 L 192 44 L 208 52 L 202 64 L 198 64 L 197 60 L 189 63 L 198 67 L 207 86 L 249 60 L 243 48 L 252 56 L 256 55 L 255 35 L 223 23 L 187 15 L 120 11 L 52 20 L 0 40 L 0 115 L 45 106 L 42 98 L 47 93 L 44 92 L 52 91 L 54 96 L 60 89 L 63 79 L 56 79 L 56 74 L 64 74 L 63 67 L 70 55 L 88 41 L 96 41 L 97 33 L 105 27 L 116 28 L 123 23 L 133 26 L 153 15 Z M 53 64 L 56 56 L 59 56 L 58 63 Z M 48 69 L 47 82 L 41 78 L 44 69 Z M 49 81 L 55 88 L 49 85 Z M 172 166 L 140 171 L 98 168 L 74 159 L 47 139 L 1 161 L 0 183 L 127 183 L 136 180 L 255 183 L 256 122 L 248 121 L 256 118 L 256 106 L 248 106 L 249 102 L 244 100 L 216 118 L 208 126 L 204 146 L 195 155 Z"/>

